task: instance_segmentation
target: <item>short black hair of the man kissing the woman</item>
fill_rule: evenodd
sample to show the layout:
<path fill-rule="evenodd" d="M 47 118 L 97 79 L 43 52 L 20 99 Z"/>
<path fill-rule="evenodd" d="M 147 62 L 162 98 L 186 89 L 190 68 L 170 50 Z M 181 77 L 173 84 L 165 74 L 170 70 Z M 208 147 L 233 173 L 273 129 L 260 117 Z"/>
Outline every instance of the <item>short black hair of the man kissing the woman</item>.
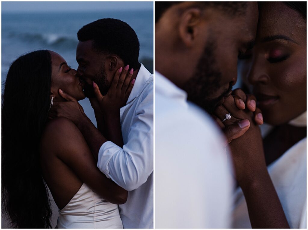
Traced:
<path fill-rule="evenodd" d="M 83 26 L 77 33 L 78 40 L 93 40 L 98 52 L 119 56 L 124 65 L 133 69 L 140 67 L 139 41 L 135 31 L 119 19 L 103 18 Z"/>

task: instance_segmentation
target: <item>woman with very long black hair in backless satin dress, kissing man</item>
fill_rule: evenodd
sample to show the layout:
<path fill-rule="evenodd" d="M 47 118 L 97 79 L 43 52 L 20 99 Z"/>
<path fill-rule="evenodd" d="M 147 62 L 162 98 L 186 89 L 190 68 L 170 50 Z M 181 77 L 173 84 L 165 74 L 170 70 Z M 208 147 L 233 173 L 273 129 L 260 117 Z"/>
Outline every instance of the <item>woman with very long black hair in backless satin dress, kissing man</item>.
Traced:
<path fill-rule="evenodd" d="M 124 75 L 120 70 L 118 77 Z M 52 227 L 46 184 L 59 207 L 58 228 L 122 228 L 117 204 L 126 202 L 127 191 L 99 171 L 71 121 L 48 119 L 53 101 L 64 101 L 58 90 L 81 100 L 83 84 L 48 50 L 25 54 L 10 66 L 2 100 L 2 204 L 14 228 Z"/>

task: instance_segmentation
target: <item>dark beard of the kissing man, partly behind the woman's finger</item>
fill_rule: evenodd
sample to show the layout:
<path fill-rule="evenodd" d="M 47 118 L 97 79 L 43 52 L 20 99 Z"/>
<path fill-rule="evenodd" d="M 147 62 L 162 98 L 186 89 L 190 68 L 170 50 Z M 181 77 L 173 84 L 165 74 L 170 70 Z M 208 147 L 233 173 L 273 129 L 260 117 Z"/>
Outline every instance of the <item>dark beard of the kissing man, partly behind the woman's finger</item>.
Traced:
<path fill-rule="evenodd" d="M 103 96 L 106 95 L 110 87 L 110 83 L 107 80 L 107 73 L 105 71 L 104 64 L 102 65 L 99 73 L 97 73 L 92 80 L 98 85 L 100 93 Z M 87 98 L 95 97 L 93 85 L 90 85 L 86 81 L 84 81 L 83 91 Z"/>

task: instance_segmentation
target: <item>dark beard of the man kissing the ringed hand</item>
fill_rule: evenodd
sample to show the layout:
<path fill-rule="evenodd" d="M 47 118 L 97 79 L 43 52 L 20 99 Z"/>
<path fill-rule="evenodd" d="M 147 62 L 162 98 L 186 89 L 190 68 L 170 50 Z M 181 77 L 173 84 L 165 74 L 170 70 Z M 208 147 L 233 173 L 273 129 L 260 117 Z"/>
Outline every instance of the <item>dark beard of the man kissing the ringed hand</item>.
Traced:
<path fill-rule="evenodd" d="M 205 44 L 205 49 L 198 61 L 196 72 L 184 84 L 184 90 L 187 92 L 188 100 L 199 105 L 208 113 L 212 114 L 219 105 L 219 101 L 232 90 L 230 83 L 229 89 L 223 92 L 219 97 L 213 98 L 220 88 L 219 84 L 222 78 L 222 73 L 215 68 L 216 60 L 214 50 L 216 49 L 215 39 L 211 36 Z"/>

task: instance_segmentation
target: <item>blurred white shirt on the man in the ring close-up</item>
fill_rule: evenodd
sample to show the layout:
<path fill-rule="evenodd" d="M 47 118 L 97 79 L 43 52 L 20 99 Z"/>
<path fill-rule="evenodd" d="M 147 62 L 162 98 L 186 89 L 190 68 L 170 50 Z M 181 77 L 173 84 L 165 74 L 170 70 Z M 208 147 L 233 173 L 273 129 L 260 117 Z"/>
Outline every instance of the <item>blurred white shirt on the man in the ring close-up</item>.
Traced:
<path fill-rule="evenodd" d="M 155 228 L 230 228 L 233 179 L 222 134 L 155 72 Z"/>

